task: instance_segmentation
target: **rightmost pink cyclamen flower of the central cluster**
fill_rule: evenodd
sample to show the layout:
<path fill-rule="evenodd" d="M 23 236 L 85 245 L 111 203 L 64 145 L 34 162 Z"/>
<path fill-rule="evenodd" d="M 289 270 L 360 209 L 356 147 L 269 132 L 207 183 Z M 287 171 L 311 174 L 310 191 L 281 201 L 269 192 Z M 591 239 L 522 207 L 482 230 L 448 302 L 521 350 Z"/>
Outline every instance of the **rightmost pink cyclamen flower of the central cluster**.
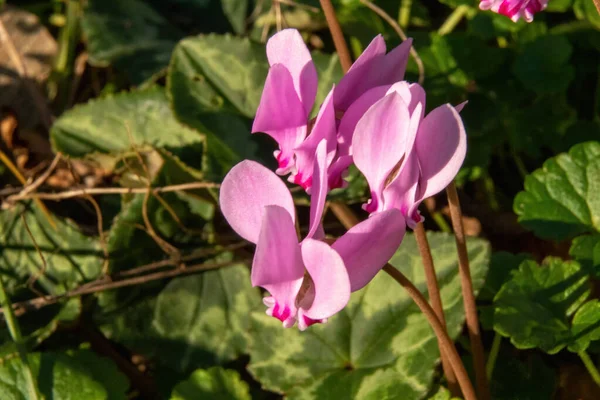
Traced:
<path fill-rule="evenodd" d="M 364 208 L 398 209 L 414 228 L 421 221 L 420 203 L 442 191 L 465 159 L 466 133 L 458 114 L 463 104 L 445 104 L 424 116 L 425 92 L 407 82 L 374 98 L 363 99 L 373 105 L 356 123 L 352 139 L 354 162 L 371 190 Z"/>

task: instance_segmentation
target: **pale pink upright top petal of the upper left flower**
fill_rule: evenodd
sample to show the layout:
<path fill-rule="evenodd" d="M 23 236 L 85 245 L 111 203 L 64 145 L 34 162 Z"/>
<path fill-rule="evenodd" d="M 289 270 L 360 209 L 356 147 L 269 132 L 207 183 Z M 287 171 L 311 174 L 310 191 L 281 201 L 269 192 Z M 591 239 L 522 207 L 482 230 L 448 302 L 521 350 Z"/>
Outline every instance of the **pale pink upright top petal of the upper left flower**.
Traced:
<path fill-rule="evenodd" d="M 267 58 L 271 66 L 282 64 L 290 71 L 294 88 L 308 116 L 317 95 L 317 69 L 300 32 L 284 29 L 273 35 L 267 42 Z"/>

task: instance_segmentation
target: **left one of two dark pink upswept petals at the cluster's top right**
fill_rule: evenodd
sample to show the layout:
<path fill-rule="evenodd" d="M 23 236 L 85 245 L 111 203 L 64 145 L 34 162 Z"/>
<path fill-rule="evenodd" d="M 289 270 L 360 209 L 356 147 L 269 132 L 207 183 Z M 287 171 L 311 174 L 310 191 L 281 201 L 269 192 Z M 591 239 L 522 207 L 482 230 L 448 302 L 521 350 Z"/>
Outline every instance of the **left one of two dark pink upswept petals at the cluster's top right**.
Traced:
<path fill-rule="evenodd" d="M 346 111 L 364 92 L 376 86 L 372 84 L 370 76 L 373 66 L 379 64 L 379 60 L 383 60 L 385 50 L 383 36 L 375 36 L 340 80 L 334 98 L 336 110 Z"/>

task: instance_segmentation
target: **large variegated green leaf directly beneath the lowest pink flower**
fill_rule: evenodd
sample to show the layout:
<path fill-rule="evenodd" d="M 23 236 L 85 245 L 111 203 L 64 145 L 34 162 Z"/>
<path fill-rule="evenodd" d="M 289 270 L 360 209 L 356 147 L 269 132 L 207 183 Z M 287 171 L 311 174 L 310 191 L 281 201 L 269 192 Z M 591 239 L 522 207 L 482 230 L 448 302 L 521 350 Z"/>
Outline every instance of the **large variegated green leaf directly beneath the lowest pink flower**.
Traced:
<path fill-rule="evenodd" d="M 456 246 L 451 235 L 429 233 L 449 332 L 464 321 Z M 471 239 L 473 284 L 487 270 L 489 245 Z M 391 264 L 422 291 L 425 277 L 414 236 L 407 234 Z M 252 316 L 250 373 L 267 390 L 291 399 L 420 399 L 439 360 L 433 331 L 393 279 L 378 274 L 351 296 L 349 305 L 322 325 L 304 332 L 283 329 L 261 309 Z"/>

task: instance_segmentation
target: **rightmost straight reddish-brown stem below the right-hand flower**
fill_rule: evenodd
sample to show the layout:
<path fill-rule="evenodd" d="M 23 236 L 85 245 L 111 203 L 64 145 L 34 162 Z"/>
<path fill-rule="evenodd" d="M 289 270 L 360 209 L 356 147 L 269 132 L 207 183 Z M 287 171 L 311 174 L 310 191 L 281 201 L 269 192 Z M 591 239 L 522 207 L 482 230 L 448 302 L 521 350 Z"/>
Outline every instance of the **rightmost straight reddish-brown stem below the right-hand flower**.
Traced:
<path fill-rule="evenodd" d="M 450 206 L 450 216 L 452 218 L 452 228 L 454 228 L 454 237 L 456 239 L 456 250 L 458 252 L 458 271 L 462 287 L 463 303 L 467 319 L 467 329 L 469 331 L 469 340 L 473 352 L 473 364 L 475 368 L 475 378 L 477 381 L 477 391 L 480 400 L 490 399 L 490 388 L 486 376 L 485 355 L 483 344 L 481 343 L 481 331 L 479 329 L 479 318 L 477 317 L 477 306 L 475 304 L 475 295 L 473 294 L 473 282 L 471 281 L 471 271 L 469 267 L 469 256 L 467 254 L 467 244 L 465 241 L 465 231 L 462 223 L 462 211 L 458 192 L 454 181 L 446 188 L 448 196 L 448 205 Z"/>

